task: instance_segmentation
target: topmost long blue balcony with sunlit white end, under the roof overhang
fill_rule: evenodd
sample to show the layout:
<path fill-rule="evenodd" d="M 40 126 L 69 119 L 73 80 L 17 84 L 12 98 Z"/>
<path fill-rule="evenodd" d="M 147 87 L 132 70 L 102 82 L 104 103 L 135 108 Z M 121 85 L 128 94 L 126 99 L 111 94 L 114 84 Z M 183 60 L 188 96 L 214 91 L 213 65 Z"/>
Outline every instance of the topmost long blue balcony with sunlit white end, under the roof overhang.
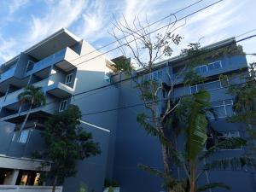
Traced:
<path fill-rule="evenodd" d="M 49 55 L 43 60 L 36 62 L 32 70 L 26 72 L 25 76 L 31 75 L 32 73 L 37 73 L 43 70 L 44 68 L 50 67 L 52 65 L 60 67 L 64 71 L 73 70 L 76 67 L 73 66 L 73 64 L 71 64 L 69 61 L 72 61 L 74 58 L 78 56 L 79 55 L 75 53 L 73 49 L 70 49 L 68 47 L 65 49 L 61 49 L 54 55 Z"/>

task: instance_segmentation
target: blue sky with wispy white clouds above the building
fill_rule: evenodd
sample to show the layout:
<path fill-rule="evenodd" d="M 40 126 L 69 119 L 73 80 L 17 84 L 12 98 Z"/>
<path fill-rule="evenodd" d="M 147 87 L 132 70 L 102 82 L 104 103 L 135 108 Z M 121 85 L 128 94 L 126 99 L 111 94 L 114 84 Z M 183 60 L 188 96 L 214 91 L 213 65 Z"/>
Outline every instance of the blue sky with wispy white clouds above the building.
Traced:
<path fill-rule="evenodd" d="M 113 28 L 113 16 L 125 15 L 130 23 L 135 15 L 138 15 L 142 22 L 147 16 L 151 23 L 196 1 L 1 0 L 0 63 L 8 61 L 20 51 L 38 43 L 62 27 L 99 48 L 114 40 L 109 35 Z M 204 0 L 195 7 L 179 13 L 177 18 L 216 1 Z M 210 9 L 189 17 L 186 25 L 177 31 L 183 36 L 183 42 L 178 49 L 183 49 L 189 42 L 198 42 L 199 39 L 201 44 L 206 45 L 256 28 L 255 8 L 255 0 L 224 0 Z M 164 25 L 166 21 L 157 26 Z M 185 20 L 180 21 L 177 26 L 184 22 Z M 250 34 L 256 34 L 256 31 L 247 35 Z M 255 43 L 256 38 L 253 38 L 241 45 L 247 52 L 255 53 Z M 105 50 L 111 48 L 107 47 Z M 119 54 L 118 51 L 113 51 L 108 56 L 113 57 Z M 253 58 L 249 57 L 248 60 L 251 61 Z"/>

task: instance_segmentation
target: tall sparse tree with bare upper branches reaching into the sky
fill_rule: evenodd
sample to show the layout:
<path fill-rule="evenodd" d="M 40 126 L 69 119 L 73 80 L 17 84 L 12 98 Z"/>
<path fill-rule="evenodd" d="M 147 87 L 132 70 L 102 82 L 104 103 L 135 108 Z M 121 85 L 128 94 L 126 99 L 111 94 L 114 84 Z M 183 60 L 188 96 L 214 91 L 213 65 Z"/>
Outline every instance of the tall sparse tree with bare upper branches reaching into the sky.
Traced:
<path fill-rule="evenodd" d="M 137 23 L 137 24 L 136 24 Z M 135 18 L 133 22 L 133 27 L 131 27 L 128 22 L 123 17 L 123 20 L 115 20 L 113 25 L 116 27 L 116 31 L 113 30 L 113 38 L 117 40 L 120 45 L 120 50 L 124 55 L 125 47 L 131 51 L 133 59 L 135 59 L 138 67 L 143 68 L 144 73 L 151 73 L 154 70 L 155 63 L 163 59 L 163 57 L 172 55 L 172 45 L 179 44 L 182 39 L 179 35 L 175 34 L 173 27 L 175 22 L 171 22 L 166 27 L 165 32 L 162 34 L 154 33 L 150 31 L 150 27 L 143 27 L 139 19 Z M 123 34 L 124 38 L 117 37 L 117 32 Z M 129 37 L 129 39 L 128 39 Z M 153 40 L 154 39 L 154 40 Z M 131 43 L 131 41 L 133 41 Z M 121 67 L 121 69 L 120 69 Z M 133 67 L 127 67 L 126 63 L 121 65 L 118 63 L 117 68 L 119 71 L 124 71 L 130 76 L 134 75 L 136 71 L 132 70 Z M 171 75 L 168 73 L 168 76 L 171 78 Z M 164 174 L 166 177 L 171 176 L 171 169 L 168 160 L 168 146 L 166 145 L 166 135 L 164 128 L 164 121 L 169 113 L 172 113 L 174 108 L 171 108 L 170 98 L 173 88 L 173 79 L 171 89 L 167 92 L 167 108 L 166 111 L 161 113 L 160 111 L 160 101 L 158 96 L 160 91 L 163 90 L 163 84 L 159 80 L 154 79 L 144 79 L 141 81 L 139 78 L 133 79 L 137 84 L 137 90 L 139 90 L 141 99 L 144 103 L 145 108 L 147 108 L 150 115 L 146 113 L 140 113 L 137 115 L 137 121 L 143 125 L 146 131 L 149 134 L 158 137 L 161 141 L 162 155 L 163 155 L 163 165 L 164 165 Z"/>

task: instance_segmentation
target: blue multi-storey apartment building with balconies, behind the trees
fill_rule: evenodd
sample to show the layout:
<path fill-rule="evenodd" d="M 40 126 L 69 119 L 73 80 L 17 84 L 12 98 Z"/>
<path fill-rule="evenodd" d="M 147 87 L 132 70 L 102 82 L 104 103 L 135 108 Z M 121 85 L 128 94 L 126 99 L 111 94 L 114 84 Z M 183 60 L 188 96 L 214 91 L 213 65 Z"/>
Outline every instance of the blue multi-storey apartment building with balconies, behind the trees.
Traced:
<path fill-rule="evenodd" d="M 234 46 L 236 47 L 235 38 L 229 38 L 211 44 L 207 49 L 232 49 Z M 178 56 L 161 61 L 155 66 L 154 72 L 143 75 L 143 71 L 137 71 L 137 74 L 147 79 L 161 79 L 168 84 L 167 72 L 175 77 L 183 66 L 183 59 Z M 81 120 L 108 130 L 82 124 L 84 130 L 92 132 L 94 140 L 101 144 L 102 154 L 79 161 L 77 175 L 67 178 L 63 184 L 64 192 L 77 191 L 81 182 L 100 192 L 106 178 L 117 181 L 121 192 L 163 191 L 160 178 L 137 167 L 139 163 L 143 163 L 162 169 L 160 143 L 155 137 L 148 136 L 138 125 L 137 113 L 145 110 L 143 106 L 137 105 L 142 102 L 139 93 L 134 89 L 131 79 L 125 80 L 125 74 L 112 73 L 113 61 L 71 32 L 61 29 L 2 65 L 0 189 L 4 186 L 3 189 L 7 191 L 9 186 L 38 184 L 40 172 L 50 170 L 50 166 L 40 170 L 38 167 L 42 160 L 31 159 L 33 151 L 44 150 L 44 141 L 40 136 L 44 121 L 55 111 L 61 112 L 68 104 L 75 104 L 83 113 Z M 211 124 L 221 132 L 219 137 L 243 137 L 244 125 L 226 121 L 227 117 L 234 113 L 234 98 L 226 93 L 227 87 L 219 79 L 219 75 L 228 75 L 228 84 L 241 83 L 239 77 L 231 74 L 247 73 L 245 55 L 220 54 L 196 67 L 195 71 L 209 80 L 204 84 L 184 87 L 182 79 L 178 79 L 172 97 L 195 93 L 202 88 L 208 90 L 211 93 L 212 108 L 218 114 L 218 119 L 212 118 Z M 17 131 L 25 118 L 28 106 L 20 106 L 17 96 L 28 84 L 43 87 L 47 104 L 32 108 L 25 129 L 19 135 Z M 165 98 L 165 94 L 162 98 Z M 133 107 L 126 108 L 127 106 Z M 211 143 L 211 136 L 208 143 Z M 233 156 L 244 153 L 244 148 L 235 148 L 223 150 L 216 155 Z M 246 169 L 207 172 L 203 178 L 202 183 L 227 183 L 234 192 L 256 190 L 254 172 Z M 58 190 L 61 191 L 61 188 Z M 34 191 L 40 191 L 40 187 L 34 187 Z M 212 191 L 220 192 L 224 189 Z"/>

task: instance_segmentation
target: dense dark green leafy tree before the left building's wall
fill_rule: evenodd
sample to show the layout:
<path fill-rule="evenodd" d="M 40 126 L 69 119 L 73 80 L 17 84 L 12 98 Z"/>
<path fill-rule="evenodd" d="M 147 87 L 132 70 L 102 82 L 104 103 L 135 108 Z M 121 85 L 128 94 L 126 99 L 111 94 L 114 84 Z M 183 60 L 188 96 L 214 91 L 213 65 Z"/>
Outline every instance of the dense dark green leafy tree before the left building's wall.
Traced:
<path fill-rule="evenodd" d="M 52 166 L 53 189 L 66 177 L 76 173 L 76 161 L 100 154 L 98 143 L 93 142 L 91 133 L 83 131 L 80 125 L 81 112 L 75 105 L 70 105 L 62 113 L 54 113 L 45 123 L 42 136 L 46 144 L 45 154 Z"/>

